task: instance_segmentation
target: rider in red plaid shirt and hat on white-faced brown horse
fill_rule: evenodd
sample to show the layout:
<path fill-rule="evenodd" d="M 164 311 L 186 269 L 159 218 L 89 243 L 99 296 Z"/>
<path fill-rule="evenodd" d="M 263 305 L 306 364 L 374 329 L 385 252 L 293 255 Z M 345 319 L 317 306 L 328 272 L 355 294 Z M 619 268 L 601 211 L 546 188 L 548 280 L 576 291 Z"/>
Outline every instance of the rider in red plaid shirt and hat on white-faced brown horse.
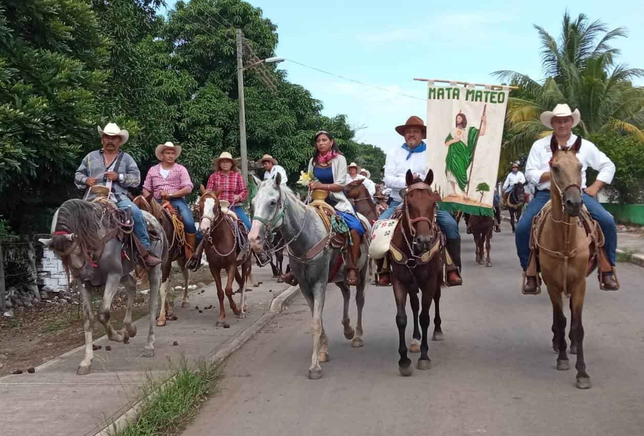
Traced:
<path fill-rule="evenodd" d="M 246 229 L 251 230 L 251 219 L 242 206 L 238 206 L 248 197 L 248 190 L 242 174 L 237 169 L 237 161 L 232 159 L 230 153 L 223 152 L 214 159 L 213 166 L 215 172 L 209 177 L 205 188 L 213 191 L 222 190 L 219 199 L 231 203 L 232 211 L 242 220 Z"/>

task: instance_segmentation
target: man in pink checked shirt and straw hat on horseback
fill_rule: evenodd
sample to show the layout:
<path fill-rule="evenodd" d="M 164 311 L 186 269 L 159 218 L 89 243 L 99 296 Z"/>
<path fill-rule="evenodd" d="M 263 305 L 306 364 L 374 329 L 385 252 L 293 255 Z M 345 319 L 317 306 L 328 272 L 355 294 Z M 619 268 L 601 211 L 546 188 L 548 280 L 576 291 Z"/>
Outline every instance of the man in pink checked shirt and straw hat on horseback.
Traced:
<path fill-rule="evenodd" d="M 181 155 L 181 146 L 171 142 L 156 146 L 156 158 L 161 162 L 147 172 L 143 184 L 143 195 L 149 198 L 154 194 L 156 201 L 167 200 L 172 204 L 181 217 L 185 226 L 185 241 L 194 251 L 201 233 L 194 225 L 193 212 L 185 202 L 185 196 L 192 192 L 193 182 L 185 166 L 176 163 Z"/>

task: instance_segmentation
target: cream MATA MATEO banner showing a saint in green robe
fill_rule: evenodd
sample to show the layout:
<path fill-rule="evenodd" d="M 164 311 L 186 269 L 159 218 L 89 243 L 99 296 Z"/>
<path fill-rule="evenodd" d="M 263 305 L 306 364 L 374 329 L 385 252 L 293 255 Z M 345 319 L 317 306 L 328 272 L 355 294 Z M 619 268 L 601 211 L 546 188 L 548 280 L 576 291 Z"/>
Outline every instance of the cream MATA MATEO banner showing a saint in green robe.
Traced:
<path fill-rule="evenodd" d="M 428 81 L 428 168 L 442 210 L 493 215 L 509 88 Z"/>

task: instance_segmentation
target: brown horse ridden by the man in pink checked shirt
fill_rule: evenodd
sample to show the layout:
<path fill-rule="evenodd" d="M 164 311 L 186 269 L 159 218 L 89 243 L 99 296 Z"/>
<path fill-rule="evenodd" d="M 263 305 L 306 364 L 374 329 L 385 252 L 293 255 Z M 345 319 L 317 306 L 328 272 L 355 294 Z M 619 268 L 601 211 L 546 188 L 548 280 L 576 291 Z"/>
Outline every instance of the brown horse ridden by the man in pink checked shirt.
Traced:
<path fill-rule="evenodd" d="M 162 263 L 161 266 L 161 287 L 159 288 L 159 298 L 161 302 L 159 305 L 158 318 L 156 319 L 156 326 L 163 327 L 166 325 L 167 320 L 176 321 L 176 315 L 173 311 L 175 295 L 172 288 L 172 263 L 175 261 L 179 264 L 179 268 L 181 268 L 181 272 L 184 275 L 184 297 L 181 301 L 181 307 L 186 308 L 190 306 L 190 300 L 188 297 L 188 280 L 190 278 L 190 272 L 185 266 L 187 263 L 184 248 L 185 241 L 180 241 L 178 239 L 175 233 L 174 224 L 170 221 L 167 213 L 154 197 L 150 196 L 149 199 L 146 199 L 143 195 L 138 195 L 138 197 L 133 200 L 133 203 L 136 204 L 140 210 L 145 210 L 158 219 L 169 242 L 167 260 Z M 166 299 L 168 296 L 169 299 Z"/>

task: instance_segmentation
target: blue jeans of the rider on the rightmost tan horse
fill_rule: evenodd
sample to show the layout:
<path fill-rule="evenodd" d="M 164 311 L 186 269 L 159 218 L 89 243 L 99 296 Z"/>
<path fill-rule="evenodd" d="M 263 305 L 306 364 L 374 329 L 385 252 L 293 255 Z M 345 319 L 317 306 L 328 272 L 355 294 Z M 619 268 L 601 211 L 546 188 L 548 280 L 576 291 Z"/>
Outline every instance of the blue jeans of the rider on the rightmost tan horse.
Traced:
<path fill-rule="evenodd" d="M 525 271 L 527 261 L 530 257 L 530 228 L 532 219 L 544 207 L 544 204 L 550 199 L 550 191 L 536 191 L 535 197 L 527 204 L 526 210 L 521 215 L 521 219 L 516 224 L 515 243 L 516 254 L 519 257 L 521 268 Z M 608 213 L 597 201 L 587 193 L 582 193 L 582 201 L 585 204 L 591 217 L 595 219 L 604 233 L 605 243 L 604 252 L 612 266 L 615 266 L 617 250 L 617 227 L 612 215 Z"/>

